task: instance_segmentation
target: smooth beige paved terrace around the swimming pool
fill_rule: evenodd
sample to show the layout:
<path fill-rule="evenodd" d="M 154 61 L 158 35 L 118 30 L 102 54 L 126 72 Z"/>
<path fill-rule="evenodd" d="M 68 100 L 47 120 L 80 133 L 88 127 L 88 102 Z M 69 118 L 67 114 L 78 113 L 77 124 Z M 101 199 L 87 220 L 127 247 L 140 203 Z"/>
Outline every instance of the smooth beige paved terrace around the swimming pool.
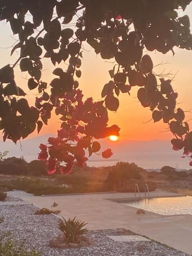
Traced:
<path fill-rule="evenodd" d="M 192 254 L 192 215 L 161 216 L 151 212 L 136 214 L 136 209 L 112 200 L 134 198 L 134 193 L 106 193 L 65 196 L 32 196 L 12 191 L 9 195 L 22 198 L 40 208 L 50 208 L 58 203 L 60 216 L 88 222 L 88 229 L 125 228 L 167 244 L 182 252 Z M 141 193 L 144 197 L 144 193 Z M 151 197 L 178 196 L 165 191 L 150 192 Z M 110 199 L 110 200 L 108 200 Z"/>

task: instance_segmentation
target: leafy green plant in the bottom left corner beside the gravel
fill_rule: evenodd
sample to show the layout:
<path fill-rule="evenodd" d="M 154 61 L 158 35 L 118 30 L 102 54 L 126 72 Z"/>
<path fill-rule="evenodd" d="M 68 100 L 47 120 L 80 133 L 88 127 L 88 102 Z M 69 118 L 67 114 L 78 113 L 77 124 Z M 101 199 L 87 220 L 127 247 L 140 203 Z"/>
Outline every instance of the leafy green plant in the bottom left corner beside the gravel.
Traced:
<path fill-rule="evenodd" d="M 24 241 L 25 242 L 25 241 Z M 41 252 L 32 249 L 24 249 L 24 242 L 18 244 L 16 240 L 10 238 L 10 232 L 0 236 L 0 255 L 2 256 L 42 256 Z"/>

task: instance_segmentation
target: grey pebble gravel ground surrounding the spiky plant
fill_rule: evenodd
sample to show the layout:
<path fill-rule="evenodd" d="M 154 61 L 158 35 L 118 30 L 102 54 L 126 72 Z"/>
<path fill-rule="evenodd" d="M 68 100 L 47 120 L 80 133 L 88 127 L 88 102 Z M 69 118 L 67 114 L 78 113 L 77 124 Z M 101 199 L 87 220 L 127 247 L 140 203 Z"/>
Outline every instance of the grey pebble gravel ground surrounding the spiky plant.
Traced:
<path fill-rule="evenodd" d="M 89 231 L 86 235 L 93 241 L 92 246 L 71 249 L 55 249 L 49 241 L 58 236 L 58 218 L 51 215 L 35 215 L 37 207 L 30 204 L 0 205 L 0 234 L 11 231 L 19 242 L 26 239 L 26 248 L 36 248 L 43 256 L 187 256 L 188 254 L 168 248 L 157 242 L 114 242 L 106 236 L 134 234 L 124 229 Z M 15 202 L 18 202 L 15 199 Z M 72 216 L 73 217 L 73 216 Z"/>

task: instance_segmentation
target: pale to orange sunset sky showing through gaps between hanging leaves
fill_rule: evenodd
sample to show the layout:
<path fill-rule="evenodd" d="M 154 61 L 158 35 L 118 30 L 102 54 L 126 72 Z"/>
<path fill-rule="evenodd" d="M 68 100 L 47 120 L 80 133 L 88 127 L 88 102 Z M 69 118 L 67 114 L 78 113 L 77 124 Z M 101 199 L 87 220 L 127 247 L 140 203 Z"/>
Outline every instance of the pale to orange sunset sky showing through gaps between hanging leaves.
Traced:
<path fill-rule="evenodd" d="M 186 13 L 192 16 L 192 5 L 188 7 Z M 0 23 L 0 30 L 2 35 L 2 40 L 0 42 L 0 66 L 4 66 L 8 63 L 13 64 L 18 55 L 15 53 L 10 57 L 10 49 L 4 49 L 5 47 L 11 46 L 15 40 L 11 37 L 11 30 L 8 24 Z M 82 88 L 85 98 L 93 97 L 95 100 L 101 100 L 101 91 L 109 80 L 110 76 L 108 70 L 113 68 L 113 63 L 105 62 L 99 55 L 96 56 L 94 51 L 90 49 L 86 43 L 84 43 L 84 48 L 88 51 L 83 52 L 82 60 L 82 77 L 79 79 L 80 88 Z M 191 95 L 192 95 L 192 51 L 187 50 L 175 50 L 175 56 L 172 56 L 172 53 L 163 55 L 158 52 L 149 52 L 150 56 L 154 61 L 154 65 L 164 61 L 170 62 L 171 64 L 166 64 L 164 66 L 159 66 L 154 68 L 154 72 L 160 73 L 166 69 L 166 73 L 171 71 L 172 74 L 176 75 L 172 86 L 176 92 L 179 93 L 178 97 L 178 107 L 183 108 L 184 110 L 190 110 L 192 108 L 191 104 Z M 52 71 L 54 66 L 50 64 L 48 60 L 45 60 L 44 71 L 42 72 L 43 80 L 48 83 L 54 77 Z M 65 69 L 66 64 L 62 62 L 59 65 L 61 68 Z M 16 68 L 16 82 L 18 86 L 24 89 L 28 94 L 28 99 L 30 102 L 33 102 L 35 90 L 30 92 L 27 87 L 27 80 L 24 79 L 27 75 L 27 72 L 22 74 L 19 71 L 19 68 Z M 29 76 L 28 76 L 29 77 Z M 128 81 L 127 81 L 128 82 Z M 131 90 L 131 96 L 128 94 L 120 94 L 120 107 L 117 113 L 109 111 L 109 124 L 117 124 L 120 130 L 120 140 L 154 140 L 154 139 L 170 139 L 172 134 L 166 132 L 168 127 L 163 122 L 153 123 L 148 120 L 151 119 L 152 112 L 148 108 L 143 108 L 136 98 L 137 90 L 139 87 L 135 86 Z M 186 113 L 186 120 L 192 118 L 192 114 Z M 192 123 L 189 122 L 191 125 Z M 41 134 L 46 133 L 56 133 L 57 129 L 60 127 L 58 117 L 53 116 L 51 120 L 48 121 L 48 126 L 42 128 Z M 30 137 L 36 136 L 36 133 L 33 133 Z"/>

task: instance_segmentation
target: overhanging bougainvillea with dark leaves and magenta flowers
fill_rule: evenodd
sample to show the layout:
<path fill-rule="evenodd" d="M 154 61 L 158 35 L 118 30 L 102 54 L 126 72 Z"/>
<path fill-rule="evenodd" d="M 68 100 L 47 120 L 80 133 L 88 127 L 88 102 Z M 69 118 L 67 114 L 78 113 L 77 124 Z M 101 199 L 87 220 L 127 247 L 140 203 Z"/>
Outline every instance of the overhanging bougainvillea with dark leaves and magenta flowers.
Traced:
<path fill-rule="evenodd" d="M 138 99 L 152 111 L 154 122 L 163 119 L 175 138 L 174 150 L 192 152 L 192 132 L 184 121 L 171 80 L 157 80 L 148 51 L 166 54 L 174 47 L 192 50 L 190 19 L 178 16 L 191 0 L 0 0 L 0 20 L 6 20 L 18 42 L 11 54 L 20 50 L 15 64 L 0 69 L 0 129 L 3 139 L 17 142 L 36 128 L 48 124 L 51 112 L 62 120 L 57 138 L 49 138 L 48 146 L 41 144 L 38 159 L 46 160 L 48 173 L 56 166 L 70 173 L 74 161 L 84 166 L 86 152 L 100 152 L 97 139 L 119 135 L 117 125 L 108 126 L 108 110 L 116 111 L 120 93 L 130 94 L 139 86 Z M 30 14 L 32 20 L 29 21 Z M 76 18 L 78 17 L 78 18 Z M 74 30 L 67 26 L 76 22 Z M 109 70 L 111 80 L 102 90 L 103 100 L 83 99 L 78 88 L 81 76 L 82 44 L 87 42 L 103 59 L 116 60 Z M 41 78 L 42 58 L 50 58 L 55 78 L 50 83 Z M 68 68 L 59 67 L 66 62 Z M 34 106 L 29 106 L 25 92 L 16 85 L 14 67 L 19 64 L 28 72 L 28 88 L 38 90 Z M 20 97 L 18 97 L 20 96 Z M 110 149 L 102 152 L 104 158 Z M 65 165 L 60 165 L 64 163 Z M 190 163 L 192 165 L 192 162 Z"/>

